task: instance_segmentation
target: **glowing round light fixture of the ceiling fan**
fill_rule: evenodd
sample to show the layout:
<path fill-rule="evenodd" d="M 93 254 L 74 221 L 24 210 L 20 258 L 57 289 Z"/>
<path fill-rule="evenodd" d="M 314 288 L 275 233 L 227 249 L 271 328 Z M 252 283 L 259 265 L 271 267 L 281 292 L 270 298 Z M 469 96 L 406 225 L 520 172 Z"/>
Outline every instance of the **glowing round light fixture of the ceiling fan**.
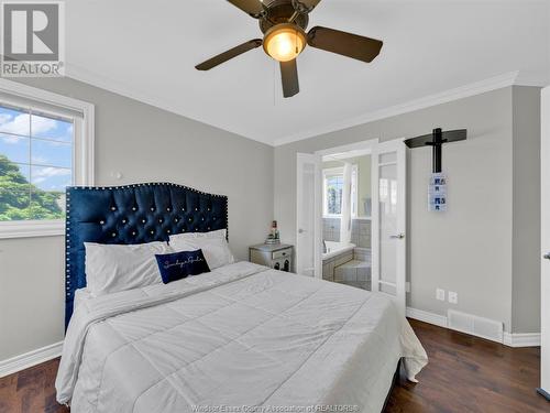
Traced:
<path fill-rule="evenodd" d="M 264 51 L 277 62 L 295 59 L 306 47 L 306 33 L 296 24 L 274 25 L 264 36 Z"/>

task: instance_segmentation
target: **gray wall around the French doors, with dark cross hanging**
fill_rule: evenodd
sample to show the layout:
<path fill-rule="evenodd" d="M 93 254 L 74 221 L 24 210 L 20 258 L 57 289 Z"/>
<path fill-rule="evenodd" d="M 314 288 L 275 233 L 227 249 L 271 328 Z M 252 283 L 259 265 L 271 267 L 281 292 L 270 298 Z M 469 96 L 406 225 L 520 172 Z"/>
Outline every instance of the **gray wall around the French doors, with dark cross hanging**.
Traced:
<path fill-rule="evenodd" d="M 520 88 L 507 87 L 276 148 L 275 218 L 283 240 L 296 240 L 297 152 L 311 153 L 370 139 L 415 137 L 435 127 L 468 128 L 466 142 L 443 150 L 443 170 L 449 175 L 449 210 L 444 214 L 427 209 L 430 149 L 408 154 L 408 305 L 441 315 L 452 307 L 502 320 L 507 332 L 530 332 L 539 323 L 538 304 L 525 307 L 525 315 L 514 317 L 517 323 L 512 323 L 513 184 L 525 184 L 513 176 L 513 90 L 517 91 L 514 95 L 522 94 Z M 538 150 L 535 141 L 526 142 L 529 152 Z M 517 180 L 521 181 L 519 176 Z M 529 220 L 530 228 L 539 225 L 539 215 L 521 217 Z M 526 233 L 531 242 L 538 242 L 534 236 Z M 524 280 L 528 294 L 537 287 L 532 279 Z M 437 287 L 458 292 L 459 304 L 437 301 Z M 525 319 L 531 323 L 524 324 Z"/>

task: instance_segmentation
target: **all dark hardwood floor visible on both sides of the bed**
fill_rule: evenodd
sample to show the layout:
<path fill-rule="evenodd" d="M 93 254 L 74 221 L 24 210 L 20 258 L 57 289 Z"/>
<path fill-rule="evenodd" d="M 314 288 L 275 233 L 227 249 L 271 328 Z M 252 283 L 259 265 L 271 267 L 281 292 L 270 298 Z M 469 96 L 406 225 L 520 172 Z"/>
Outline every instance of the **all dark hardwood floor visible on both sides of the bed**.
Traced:
<path fill-rule="evenodd" d="M 419 383 L 402 377 L 386 413 L 550 412 L 536 394 L 539 348 L 509 348 L 430 324 L 410 320 L 430 363 Z M 66 413 L 55 402 L 58 359 L 0 379 L 0 413 Z"/>

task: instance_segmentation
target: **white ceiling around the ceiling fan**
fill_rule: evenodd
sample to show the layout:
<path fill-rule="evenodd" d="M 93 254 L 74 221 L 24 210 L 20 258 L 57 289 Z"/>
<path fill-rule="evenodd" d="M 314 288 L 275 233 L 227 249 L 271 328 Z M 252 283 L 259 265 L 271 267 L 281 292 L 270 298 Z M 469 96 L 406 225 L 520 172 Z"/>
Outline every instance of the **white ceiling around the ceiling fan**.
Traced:
<path fill-rule="evenodd" d="M 309 28 L 384 47 L 372 64 L 306 47 L 289 99 L 261 47 L 194 68 L 261 37 L 224 0 L 72 0 L 66 13 L 68 76 L 270 144 L 506 73 L 550 84 L 548 0 L 322 0 Z"/>

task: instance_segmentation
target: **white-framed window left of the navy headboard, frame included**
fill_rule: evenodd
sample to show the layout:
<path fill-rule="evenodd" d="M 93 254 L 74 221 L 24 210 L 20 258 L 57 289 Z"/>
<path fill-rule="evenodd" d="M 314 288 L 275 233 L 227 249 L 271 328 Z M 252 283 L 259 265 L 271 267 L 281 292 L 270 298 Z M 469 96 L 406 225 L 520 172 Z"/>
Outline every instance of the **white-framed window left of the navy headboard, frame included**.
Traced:
<path fill-rule="evenodd" d="M 0 81 L 0 238 L 63 233 L 65 187 L 92 183 L 92 108 Z"/>

